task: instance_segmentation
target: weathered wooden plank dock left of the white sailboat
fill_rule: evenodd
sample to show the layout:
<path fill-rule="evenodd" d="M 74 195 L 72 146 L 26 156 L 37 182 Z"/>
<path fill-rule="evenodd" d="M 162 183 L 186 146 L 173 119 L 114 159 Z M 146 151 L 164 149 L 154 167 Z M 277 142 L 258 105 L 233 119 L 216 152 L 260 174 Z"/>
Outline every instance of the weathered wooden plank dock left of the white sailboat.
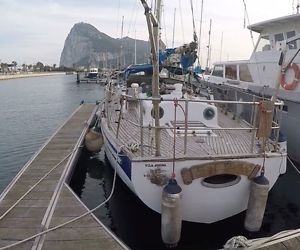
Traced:
<path fill-rule="evenodd" d="M 1 194 L 0 249 L 127 249 L 93 214 L 42 233 L 88 211 L 67 182 L 95 108 L 81 105 Z"/>

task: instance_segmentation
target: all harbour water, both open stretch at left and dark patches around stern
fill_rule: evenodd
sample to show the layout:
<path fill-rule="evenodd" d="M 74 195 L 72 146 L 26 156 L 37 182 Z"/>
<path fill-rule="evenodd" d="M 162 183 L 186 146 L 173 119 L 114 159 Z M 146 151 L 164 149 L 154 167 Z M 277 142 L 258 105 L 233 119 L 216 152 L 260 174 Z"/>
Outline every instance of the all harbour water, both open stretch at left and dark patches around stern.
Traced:
<path fill-rule="evenodd" d="M 74 75 L 0 81 L 0 191 L 82 100 L 94 103 L 102 97 L 103 86 L 76 84 Z M 113 174 L 103 150 L 94 155 L 83 151 L 70 185 L 92 209 L 109 196 Z M 176 249 L 218 249 L 235 235 L 257 238 L 300 227 L 299 187 L 300 175 L 289 163 L 287 173 L 269 194 L 260 232 L 243 229 L 245 213 L 209 225 L 184 222 Z M 131 249 L 165 249 L 160 215 L 147 208 L 119 178 L 111 200 L 95 214 Z"/>

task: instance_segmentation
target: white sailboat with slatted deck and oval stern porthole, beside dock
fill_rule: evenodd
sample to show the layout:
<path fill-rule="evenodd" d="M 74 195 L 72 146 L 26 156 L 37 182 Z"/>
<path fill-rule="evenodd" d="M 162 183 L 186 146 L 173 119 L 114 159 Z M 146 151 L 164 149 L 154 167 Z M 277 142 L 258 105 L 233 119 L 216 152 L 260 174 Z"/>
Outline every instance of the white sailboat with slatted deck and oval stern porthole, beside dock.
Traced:
<path fill-rule="evenodd" d="M 286 171 L 286 143 L 278 141 L 283 104 L 230 101 L 250 107 L 253 120 L 247 123 L 224 112 L 226 101 L 191 95 L 180 81 L 164 79 L 162 88 L 160 14 L 154 16 L 141 2 L 150 34 L 152 88 L 107 84 L 100 115 L 106 155 L 130 190 L 162 217 L 172 207 L 166 203 L 177 198 L 181 205 L 169 220 L 213 223 L 238 214 L 247 208 L 254 177 L 264 175 L 270 189 Z M 165 192 L 170 192 L 167 200 Z"/>

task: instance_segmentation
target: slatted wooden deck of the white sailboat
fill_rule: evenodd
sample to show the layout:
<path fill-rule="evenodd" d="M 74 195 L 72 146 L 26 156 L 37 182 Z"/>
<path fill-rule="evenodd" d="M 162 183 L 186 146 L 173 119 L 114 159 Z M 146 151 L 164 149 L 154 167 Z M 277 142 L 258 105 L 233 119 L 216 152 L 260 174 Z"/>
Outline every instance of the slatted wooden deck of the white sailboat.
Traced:
<path fill-rule="evenodd" d="M 111 110 L 120 110 L 119 101 L 112 101 Z M 137 103 L 130 104 L 126 112 L 122 112 L 122 119 L 119 125 L 120 145 L 130 145 L 132 143 L 140 144 L 141 130 L 134 124 L 139 124 L 139 115 Z M 118 120 L 120 112 L 110 112 L 110 124 L 113 133 L 117 133 Z M 134 123 L 134 124 L 133 124 Z M 179 124 L 179 125 L 178 125 Z M 192 124 L 187 136 L 187 149 L 184 154 L 184 121 L 177 121 L 176 127 L 179 127 L 176 136 L 176 157 L 177 158 L 226 158 L 236 155 L 237 157 L 254 157 L 261 151 L 257 140 L 253 140 L 253 152 L 251 150 L 251 140 L 255 131 L 243 121 L 233 119 L 231 113 L 225 114 L 219 108 L 218 124 L 220 128 L 228 130 L 209 129 L 201 124 Z M 231 129 L 230 129 L 231 128 Z M 236 128 L 236 129 L 232 129 Z M 240 128 L 249 128 L 239 130 Z M 168 131 L 169 130 L 169 131 Z M 202 131 L 202 132 L 201 132 Z M 161 130 L 161 157 L 170 158 L 173 154 L 174 130 L 172 127 Z M 144 138 L 144 157 L 151 158 L 154 155 L 154 129 L 143 128 Z M 132 160 L 140 157 L 140 148 L 137 151 L 128 150 Z M 145 158 L 144 158 L 145 160 Z"/>

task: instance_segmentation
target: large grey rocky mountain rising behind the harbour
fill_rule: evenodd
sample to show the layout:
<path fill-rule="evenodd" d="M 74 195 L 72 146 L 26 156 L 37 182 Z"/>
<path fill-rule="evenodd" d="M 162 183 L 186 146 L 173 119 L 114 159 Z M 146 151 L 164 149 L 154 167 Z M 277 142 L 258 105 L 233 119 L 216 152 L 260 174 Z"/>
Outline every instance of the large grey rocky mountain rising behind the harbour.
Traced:
<path fill-rule="evenodd" d="M 66 38 L 60 66 L 125 67 L 134 63 L 134 46 L 132 38 L 114 39 L 88 23 L 76 23 Z M 137 63 L 147 62 L 149 43 L 136 40 L 136 50 Z"/>

